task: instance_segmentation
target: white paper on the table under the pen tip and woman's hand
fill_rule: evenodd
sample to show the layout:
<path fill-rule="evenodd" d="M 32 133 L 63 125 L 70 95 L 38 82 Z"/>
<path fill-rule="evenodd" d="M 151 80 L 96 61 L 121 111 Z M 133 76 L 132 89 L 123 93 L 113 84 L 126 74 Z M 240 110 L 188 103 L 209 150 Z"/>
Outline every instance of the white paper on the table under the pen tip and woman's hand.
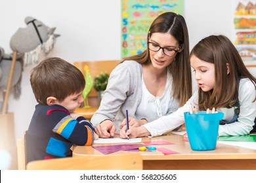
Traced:
<path fill-rule="evenodd" d="M 108 138 L 108 139 L 98 139 L 95 140 L 94 144 L 116 144 L 116 143 L 139 143 L 142 138 L 135 139 L 121 139 L 121 138 Z"/>

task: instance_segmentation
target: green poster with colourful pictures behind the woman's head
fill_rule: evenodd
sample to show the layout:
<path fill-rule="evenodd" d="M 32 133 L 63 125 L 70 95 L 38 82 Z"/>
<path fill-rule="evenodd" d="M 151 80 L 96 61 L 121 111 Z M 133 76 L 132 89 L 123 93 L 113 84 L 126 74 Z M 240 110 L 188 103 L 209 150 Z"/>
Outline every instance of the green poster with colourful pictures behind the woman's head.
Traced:
<path fill-rule="evenodd" d="M 146 50 L 148 29 L 163 12 L 175 12 L 184 16 L 183 0 L 121 1 L 122 59 Z"/>

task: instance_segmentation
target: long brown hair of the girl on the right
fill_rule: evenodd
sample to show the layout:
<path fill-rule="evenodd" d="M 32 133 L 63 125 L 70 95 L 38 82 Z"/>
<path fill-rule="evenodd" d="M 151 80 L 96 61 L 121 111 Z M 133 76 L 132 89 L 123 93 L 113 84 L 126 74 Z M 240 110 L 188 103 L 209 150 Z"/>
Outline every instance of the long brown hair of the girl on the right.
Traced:
<path fill-rule="evenodd" d="M 211 35 L 202 39 L 190 52 L 190 57 L 192 55 L 213 63 L 215 67 L 215 88 L 208 92 L 203 92 L 201 88 L 198 90 L 200 110 L 230 108 L 234 105 L 238 100 L 240 78 L 249 78 L 256 90 L 255 77 L 245 67 L 234 44 L 224 35 Z"/>

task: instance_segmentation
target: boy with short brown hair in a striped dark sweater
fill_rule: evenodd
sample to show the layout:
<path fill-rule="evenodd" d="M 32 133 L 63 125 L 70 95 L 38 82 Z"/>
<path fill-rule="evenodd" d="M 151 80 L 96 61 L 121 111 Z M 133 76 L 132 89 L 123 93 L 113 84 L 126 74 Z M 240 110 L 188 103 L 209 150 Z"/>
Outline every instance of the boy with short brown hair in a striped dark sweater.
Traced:
<path fill-rule="evenodd" d="M 85 88 L 79 69 L 63 59 L 47 58 L 32 69 L 30 84 L 38 104 L 26 132 L 27 162 L 72 156 L 73 144 L 90 146 L 98 139 L 93 125 L 74 113 Z"/>

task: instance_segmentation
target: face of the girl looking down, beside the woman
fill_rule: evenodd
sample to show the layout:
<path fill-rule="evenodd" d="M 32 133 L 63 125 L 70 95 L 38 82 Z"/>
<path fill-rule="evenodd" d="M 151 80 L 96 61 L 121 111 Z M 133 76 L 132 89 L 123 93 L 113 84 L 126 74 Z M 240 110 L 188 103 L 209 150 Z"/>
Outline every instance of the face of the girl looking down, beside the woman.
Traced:
<path fill-rule="evenodd" d="M 215 87 L 215 67 L 213 63 L 203 61 L 192 55 L 190 64 L 194 69 L 195 79 L 203 92 L 208 92 Z"/>

